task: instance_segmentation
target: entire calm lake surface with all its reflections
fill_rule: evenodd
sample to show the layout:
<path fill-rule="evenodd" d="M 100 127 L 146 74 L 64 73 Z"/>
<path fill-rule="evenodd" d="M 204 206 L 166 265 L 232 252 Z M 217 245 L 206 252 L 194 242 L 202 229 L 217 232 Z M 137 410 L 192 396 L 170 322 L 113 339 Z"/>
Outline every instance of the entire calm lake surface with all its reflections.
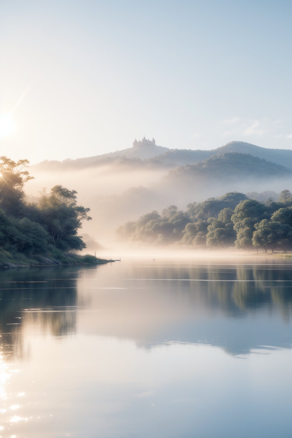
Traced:
<path fill-rule="evenodd" d="M 292 436 L 292 259 L 0 272 L 0 435 Z"/>

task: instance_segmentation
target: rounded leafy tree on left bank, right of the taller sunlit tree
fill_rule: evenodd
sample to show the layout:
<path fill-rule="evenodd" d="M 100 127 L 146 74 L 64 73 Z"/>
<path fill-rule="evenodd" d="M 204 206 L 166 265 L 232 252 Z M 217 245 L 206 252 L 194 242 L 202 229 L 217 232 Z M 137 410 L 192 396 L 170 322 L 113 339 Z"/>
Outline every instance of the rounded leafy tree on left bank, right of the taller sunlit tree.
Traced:
<path fill-rule="evenodd" d="M 77 205 L 77 191 L 56 185 L 49 194 L 41 192 L 39 207 L 41 221 L 53 240 L 53 246 L 63 250 L 82 249 L 86 245 L 77 232 L 82 222 L 92 218 L 88 216 L 90 208 Z"/>

